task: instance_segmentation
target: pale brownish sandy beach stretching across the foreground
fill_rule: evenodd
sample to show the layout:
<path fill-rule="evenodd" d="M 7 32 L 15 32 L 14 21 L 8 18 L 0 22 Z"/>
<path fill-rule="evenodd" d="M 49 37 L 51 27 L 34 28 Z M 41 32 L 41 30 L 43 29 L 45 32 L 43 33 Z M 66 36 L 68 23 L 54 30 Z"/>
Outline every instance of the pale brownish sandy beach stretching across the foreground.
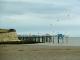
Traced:
<path fill-rule="evenodd" d="M 80 60 L 80 46 L 0 45 L 0 60 Z"/>

